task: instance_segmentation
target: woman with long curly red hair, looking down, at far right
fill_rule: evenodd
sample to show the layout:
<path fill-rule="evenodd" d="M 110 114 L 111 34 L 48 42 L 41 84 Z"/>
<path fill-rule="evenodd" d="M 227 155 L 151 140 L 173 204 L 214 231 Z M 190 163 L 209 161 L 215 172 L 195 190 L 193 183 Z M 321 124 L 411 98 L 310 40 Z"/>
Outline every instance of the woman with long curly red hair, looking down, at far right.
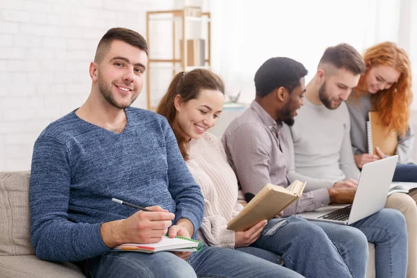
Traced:
<path fill-rule="evenodd" d="M 395 154 L 399 157 L 393 181 L 417 182 L 417 165 L 412 163 L 410 158 L 414 145 L 414 131 L 409 126 L 409 107 L 412 98 L 409 58 L 404 49 L 395 43 L 382 42 L 367 49 L 363 54 L 363 60 L 366 64 L 366 73 L 361 76 L 357 88 L 346 101 L 350 112 L 350 138 L 354 161 L 361 169 L 363 164 L 386 156 L 379 148 L 377 155 L 368 154 L 366 122 L 369 120 L 368 113 L 377 111 L 389 131 L 398 134 Z M 414 194 L 415 192 L 411 193 Z M 417 227 L 408 220 L 407 231 L 409 234 L 407 277 L 417 277 Z"/>

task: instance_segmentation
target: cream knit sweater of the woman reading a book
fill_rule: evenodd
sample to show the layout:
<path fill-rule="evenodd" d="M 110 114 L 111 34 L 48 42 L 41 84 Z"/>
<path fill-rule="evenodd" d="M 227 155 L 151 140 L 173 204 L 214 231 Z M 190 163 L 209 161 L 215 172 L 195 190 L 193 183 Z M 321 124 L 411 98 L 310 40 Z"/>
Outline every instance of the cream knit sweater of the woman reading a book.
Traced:
<path fill-rule="evenodd" d="M 204 219 L 198 239 L 207 245 L 234 248 L 234 231 L 226 229 L 243 206 L 238 203 L 238 181 L 227 162 L 222 142 L 211 133 L 190 141 L 188 169 L 202 189 Z"/>

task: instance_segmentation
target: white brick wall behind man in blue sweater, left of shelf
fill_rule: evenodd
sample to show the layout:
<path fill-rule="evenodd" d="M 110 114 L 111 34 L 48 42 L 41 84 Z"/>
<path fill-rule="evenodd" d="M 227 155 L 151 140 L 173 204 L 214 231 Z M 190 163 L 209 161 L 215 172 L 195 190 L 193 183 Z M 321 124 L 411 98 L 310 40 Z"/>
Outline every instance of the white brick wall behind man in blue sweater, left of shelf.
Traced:
<path fill-rule="evenodd" d="M 172 8 L 172 0 L 0 0 L 0 170 L 30 169 L 42 129 L 83 104 L 109 28 L 145 36 L 145 12 Z M 145 108 L 145 90 L 133 105 Z"/>

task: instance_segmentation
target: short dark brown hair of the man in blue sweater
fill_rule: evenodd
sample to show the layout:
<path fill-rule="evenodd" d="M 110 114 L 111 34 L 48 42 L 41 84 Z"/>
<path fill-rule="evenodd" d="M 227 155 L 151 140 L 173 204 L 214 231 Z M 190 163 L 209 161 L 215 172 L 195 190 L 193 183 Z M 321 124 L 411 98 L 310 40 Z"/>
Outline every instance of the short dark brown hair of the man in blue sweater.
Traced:
<path fill-rule="evenodd" d="M 111 28 L 104 34 L 97 46 L 94 58 L 95 63 L 100 63 L 103 60 L 104 55 L 110 50 L 110 45 L 114 40 L 121 40 L 131 44 L 133 47 L 138 47 L 138 49 L 142 49 L 148 55 L 147 42 L 138 32 L 127 28 Z"/>

